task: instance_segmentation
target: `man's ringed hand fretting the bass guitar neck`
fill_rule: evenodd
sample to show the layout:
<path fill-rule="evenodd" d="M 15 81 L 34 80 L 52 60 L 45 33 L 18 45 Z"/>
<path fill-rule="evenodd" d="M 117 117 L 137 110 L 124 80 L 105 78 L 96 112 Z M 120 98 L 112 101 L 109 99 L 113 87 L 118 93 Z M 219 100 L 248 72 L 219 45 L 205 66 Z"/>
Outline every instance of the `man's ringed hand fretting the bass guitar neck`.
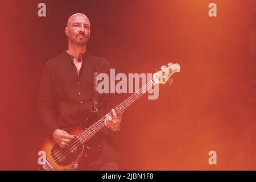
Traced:
<path fill-rule="evenodd" d="M 105 126 L 108 127 L 109 129 L 113 131 L 117 131 L 120 128 L 123 111 L 117 117 L 115 110 L 112 109 L 112 114 L 113 114 L 113 118 L 111 117 L 111 115 L 106 114 L 106 119 L 104 123 L 105 123 Z"/>

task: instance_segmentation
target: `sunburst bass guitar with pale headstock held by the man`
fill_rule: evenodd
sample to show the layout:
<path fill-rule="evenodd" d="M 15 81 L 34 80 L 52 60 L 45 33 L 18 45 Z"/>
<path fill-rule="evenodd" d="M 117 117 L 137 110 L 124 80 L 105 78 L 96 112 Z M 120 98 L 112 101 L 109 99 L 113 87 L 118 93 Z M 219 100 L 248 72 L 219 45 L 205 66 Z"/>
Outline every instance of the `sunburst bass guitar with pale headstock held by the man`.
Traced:
<path fill-rule="evenodd" d="M 168 66 L 162 66 L 161 71 L 153 74 L 152 80 L 148 81 L 146 85 L 143 85 L 137 92 L 128 97 L 125 101 L 114 108 L 115 113 L 119 114 L 123 110 L 127 109 L 138 98 L 140 98 L 148 86 L 155 86 L 156 84 L 166 84 L 171 81 L 171 76 L 180 72 L 179 64 L 168 63 Z M 94 112 L 88 112 L 82 115 L 84 122 L 89 122 Z M 109 115 L 112 115 L 112 111 L 109 111 Z M 100 148 L 90 147 L 88 143 L 90 140 L 100 131 L 104 125 L 105 116 L 98 119 L 92 125 L 86 128 L 76 128 L 69 131 L 69 134 L 77 136 L 71 142 L 64 147 L 59 147 L 55 143 L 54 139 L 47 139 L 40 147 L 40 153 L 43 155 L 43 160 L 40 163 L 40 168 L 46 171 L 64 171 L 64 170 L 77 170 L 80 165 L 80 160 L 86 160 L 89 158 L 90 150 L 99 151 Z M 100 146 L 98 146 L 100 147 Z"/>

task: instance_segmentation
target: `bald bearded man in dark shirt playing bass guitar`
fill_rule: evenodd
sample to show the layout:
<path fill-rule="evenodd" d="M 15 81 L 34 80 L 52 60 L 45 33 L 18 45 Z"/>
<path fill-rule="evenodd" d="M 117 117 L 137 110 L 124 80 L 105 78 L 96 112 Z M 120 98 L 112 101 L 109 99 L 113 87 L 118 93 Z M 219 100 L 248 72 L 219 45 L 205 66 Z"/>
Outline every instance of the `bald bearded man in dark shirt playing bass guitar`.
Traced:
<path fill-rule="evenodd" d="M 94 90 L 94 73 L 110 72 L 108 61 L 92 56 L 86 50 L 90 38 L 90 21 L 81 13 L 69 17 L 65 34 L 68 50 L 46 63 L 40 85 L 38 110 L 40 119 L 60 147 L 75 138 L 68 129 L 76 126 L 76 119 L 89 110 L 106 113 L 116 106 L 112 94 L 98 94 Z M 122 113 L 113 118 L 106 115 L 104 129 L 100 132 L 101 152 L 90 160 L 86 168 L 117 170 L 118 147 L 114 132 L 120 127 Z"/>

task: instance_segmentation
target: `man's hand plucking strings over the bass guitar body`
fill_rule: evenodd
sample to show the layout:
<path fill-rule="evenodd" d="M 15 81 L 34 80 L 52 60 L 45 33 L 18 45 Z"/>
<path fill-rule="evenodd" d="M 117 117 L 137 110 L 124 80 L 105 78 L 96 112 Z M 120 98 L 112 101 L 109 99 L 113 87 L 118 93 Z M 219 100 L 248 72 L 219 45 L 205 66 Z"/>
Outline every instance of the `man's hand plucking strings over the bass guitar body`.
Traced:
<path fill-rule="evenodd" d="M 55 142 L 59 144 L 61 148 L 75 138 L 75 136 L 69 135 L 67 131 L 59 130 L 59 129 L 53 132 L 52 137 L 54 138 Z"/>

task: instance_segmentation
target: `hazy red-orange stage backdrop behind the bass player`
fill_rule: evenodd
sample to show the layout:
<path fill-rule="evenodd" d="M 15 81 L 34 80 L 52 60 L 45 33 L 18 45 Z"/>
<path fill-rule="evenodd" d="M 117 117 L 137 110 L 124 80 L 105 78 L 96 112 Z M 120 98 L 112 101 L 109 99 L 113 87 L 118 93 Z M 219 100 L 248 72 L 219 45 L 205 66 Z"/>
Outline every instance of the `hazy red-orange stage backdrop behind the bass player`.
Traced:
<path fill-rule="evenodd" d="M 121 169 L 256 169 L 255 1 L 44 1 L 45 18 L 39 2 L 0 5 L 0 169 L 36 169 L 40 76 L 67 49 L 64 27 L 77 12 L 91 22 L 88 51 L 116 73 L 181 65 L 158 100 L 144 96 L 123 114 Z"/>

